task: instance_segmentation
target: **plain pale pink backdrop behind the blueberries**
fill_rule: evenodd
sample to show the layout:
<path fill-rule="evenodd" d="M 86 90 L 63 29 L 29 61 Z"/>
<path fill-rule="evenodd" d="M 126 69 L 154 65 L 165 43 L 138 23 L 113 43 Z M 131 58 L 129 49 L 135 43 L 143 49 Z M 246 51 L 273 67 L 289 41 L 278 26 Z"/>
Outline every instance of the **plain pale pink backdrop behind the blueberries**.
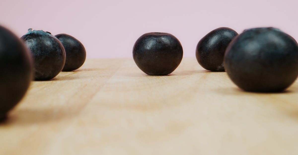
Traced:
<path fill-rule="evenodd" d="M 66 33 L 80 40 L 88 58 L 132 57 L 147 32 L 176 36 L 184 56 L 218 27 L 242 32 L 274 26 L 298 39 L 297 0 L 1 0 L 0 24 L 18 37 L 27 29 Z"/>

